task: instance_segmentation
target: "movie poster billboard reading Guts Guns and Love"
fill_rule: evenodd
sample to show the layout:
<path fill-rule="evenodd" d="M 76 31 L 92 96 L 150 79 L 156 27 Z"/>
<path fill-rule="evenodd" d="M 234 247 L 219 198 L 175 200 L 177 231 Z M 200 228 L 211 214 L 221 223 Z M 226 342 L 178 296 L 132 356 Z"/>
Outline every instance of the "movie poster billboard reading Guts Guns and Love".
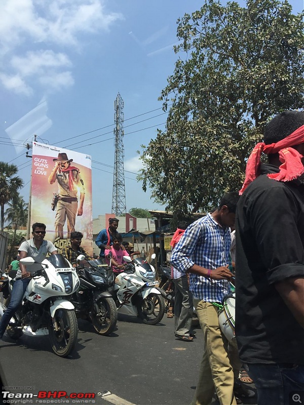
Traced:
<path fill-rule="evenodd" d="M 46 224 L 45 239 L 58 250 L 72 231 L 82 232 L 82 247 L 93 255 L 91 156 L 33 142 L 30 232 L 35 222 Z"/>

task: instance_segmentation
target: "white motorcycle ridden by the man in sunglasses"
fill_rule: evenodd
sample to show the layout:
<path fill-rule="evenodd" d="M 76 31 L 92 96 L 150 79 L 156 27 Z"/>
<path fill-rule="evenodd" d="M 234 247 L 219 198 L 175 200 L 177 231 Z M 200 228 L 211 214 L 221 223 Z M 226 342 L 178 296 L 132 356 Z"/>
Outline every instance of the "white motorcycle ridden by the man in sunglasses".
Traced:
<path fill-rule="evenodd" d="M 37 262 L 25 257 L 20 263 L 30 266 Z M 80 281 L 75 268 L 60 254 L 51 255 L 40 264 L 44 268 L 30 275 L 22 305 L 11 318 L 7 333 L 12 339 L 19 339 L 23 334 L 49 335 L 53 351 L 66 357 L 77 343 L 78 324 L 73 304 L 63 297 L 70 298 Z M 6 308 L 0 303 L 0 318 Z"/>

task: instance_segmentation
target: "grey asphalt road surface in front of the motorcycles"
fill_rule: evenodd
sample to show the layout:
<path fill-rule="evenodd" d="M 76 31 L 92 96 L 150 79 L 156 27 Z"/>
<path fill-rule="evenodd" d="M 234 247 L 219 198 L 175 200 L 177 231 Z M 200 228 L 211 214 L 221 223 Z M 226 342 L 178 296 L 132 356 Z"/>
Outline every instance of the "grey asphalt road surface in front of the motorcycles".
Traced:
<path fill-rule="evenodd" d="M 98 336 L 80 319 L 78 344 L 67 358 L 53 353 L 48 337 L 23 336 L 15 343 L 5 335 L 0 348 L 3 386 L 15 387 L 11 393 L 95 393 L 97 405 L 186 405 L 194 396 L 203 340 L 200 329 L 193 342 L 176 339 L 174 319 L 166 314 L 157 326 L 119 315 L 117 330 L 109 337 Z M 60 402 L 26 401 L 11 403 L 94 403 L 65 396 Z M 256 398 L 243 402 L 255 404 Z"/>

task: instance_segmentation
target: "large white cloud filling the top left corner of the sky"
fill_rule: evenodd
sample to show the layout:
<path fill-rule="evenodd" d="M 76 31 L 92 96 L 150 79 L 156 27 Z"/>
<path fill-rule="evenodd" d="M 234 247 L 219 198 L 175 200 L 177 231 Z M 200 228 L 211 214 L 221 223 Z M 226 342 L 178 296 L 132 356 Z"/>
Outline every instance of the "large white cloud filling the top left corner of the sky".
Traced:
<path fill-rule="evenodd" d="M 27 96 L 35 85 L 71 86 L 68 52 L 79 52 L 84 34 L 108 30 L 123 18 L 106 12 L 104 0 L 2 0 L 0 15 L 0 80 Z"/>

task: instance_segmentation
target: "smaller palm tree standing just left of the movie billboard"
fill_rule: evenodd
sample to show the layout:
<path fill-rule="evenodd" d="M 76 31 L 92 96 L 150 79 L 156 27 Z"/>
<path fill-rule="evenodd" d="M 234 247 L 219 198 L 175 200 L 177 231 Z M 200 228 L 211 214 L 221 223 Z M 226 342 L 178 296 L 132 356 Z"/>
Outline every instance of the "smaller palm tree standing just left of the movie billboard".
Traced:
<path fill-rule="evenodd" d="M 25 203 L 23 197 L 19 194 L 13 198 L 12 202 L 8 203 L 9 208 L 6 210 L 5 215 L 9 224 L 14 229 L 13 240 L 11 241 L 11 249 L 9 254 L 9 262 L 14 254 L 14 247 L 16 244 L 16 232 L 19 226 L 26 226 L 28 215 L 28 204 Z"/>

